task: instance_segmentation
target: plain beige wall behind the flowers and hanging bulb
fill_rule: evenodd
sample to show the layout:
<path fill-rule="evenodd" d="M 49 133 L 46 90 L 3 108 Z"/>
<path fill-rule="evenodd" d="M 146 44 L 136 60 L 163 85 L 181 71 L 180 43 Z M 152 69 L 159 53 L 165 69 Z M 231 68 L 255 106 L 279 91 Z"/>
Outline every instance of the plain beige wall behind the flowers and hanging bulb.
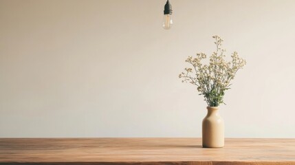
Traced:
<path fill-rule="evenodd" d="M 200 137 L 187 56 L 248 61 L 226 93 L 226 137 L 295 137 L 295 1 L 0 0 L 0 137 Z"/>

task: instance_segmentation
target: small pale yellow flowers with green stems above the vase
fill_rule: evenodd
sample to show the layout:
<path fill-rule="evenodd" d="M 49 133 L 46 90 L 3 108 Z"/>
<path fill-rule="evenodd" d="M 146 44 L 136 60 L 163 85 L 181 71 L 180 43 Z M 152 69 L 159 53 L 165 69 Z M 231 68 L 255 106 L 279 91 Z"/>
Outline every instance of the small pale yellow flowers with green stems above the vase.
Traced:
<path fill-rule="evenodd" d="M 226 50 L 221 49 L 223 40 L 219 36 L 215 39 L 216 51 L 209 57 L 209 64 L 203 64 L 202 60 L 207 57 L 204 53 L 199 53 L 195 58 L 188 56 L 186 63 L 193 66 L 185 68 L 185 72 L 179 74 L 182 82 L 190 82 L 197 86 L 199 95 L 204 98 L 209 107 L 218 107 L 223 103 L 224 92 L 230 89 L 230 80 L 234 79 L 237 71 L 246 64 L 237 52 L 232 53 L 232 61 L 226 61 Z"/>

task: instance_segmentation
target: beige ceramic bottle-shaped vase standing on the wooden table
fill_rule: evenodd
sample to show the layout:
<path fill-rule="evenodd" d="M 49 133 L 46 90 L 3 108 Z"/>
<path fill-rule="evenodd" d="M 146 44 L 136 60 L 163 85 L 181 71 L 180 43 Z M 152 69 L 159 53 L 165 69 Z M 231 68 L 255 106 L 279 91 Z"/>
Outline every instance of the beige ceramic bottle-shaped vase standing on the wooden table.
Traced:
<path fill-rule="evenodd" d="M 202 141 L 204 148 L 224 146 L 224 122 L 219 115 L 219 107 L 207 107 L 208 113 L 202 123 Z"/>

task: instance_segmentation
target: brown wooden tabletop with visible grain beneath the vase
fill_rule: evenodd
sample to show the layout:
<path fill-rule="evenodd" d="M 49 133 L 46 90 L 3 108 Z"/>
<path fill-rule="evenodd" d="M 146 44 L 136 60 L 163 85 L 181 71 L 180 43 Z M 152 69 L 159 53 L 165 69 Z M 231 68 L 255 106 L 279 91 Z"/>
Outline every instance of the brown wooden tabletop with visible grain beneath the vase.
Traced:
<path fill-rule="evenodd" d="M 295 139 L 0 138 L 0 164 L 294 164 Z"/>

